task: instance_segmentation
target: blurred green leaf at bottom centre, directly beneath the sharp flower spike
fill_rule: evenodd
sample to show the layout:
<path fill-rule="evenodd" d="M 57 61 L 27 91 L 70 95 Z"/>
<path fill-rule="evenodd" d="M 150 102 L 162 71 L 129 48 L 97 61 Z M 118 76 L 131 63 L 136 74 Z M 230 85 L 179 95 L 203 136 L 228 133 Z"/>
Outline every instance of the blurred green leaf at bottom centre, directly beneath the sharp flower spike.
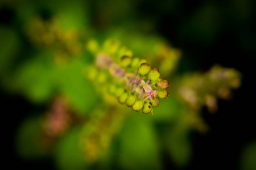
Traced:
<path fill-rule="evenodd" d="M 161 169 L 157 136 L 150 119 L 134 116 L 122 130 L 119 153 L 122 168 Z"/>

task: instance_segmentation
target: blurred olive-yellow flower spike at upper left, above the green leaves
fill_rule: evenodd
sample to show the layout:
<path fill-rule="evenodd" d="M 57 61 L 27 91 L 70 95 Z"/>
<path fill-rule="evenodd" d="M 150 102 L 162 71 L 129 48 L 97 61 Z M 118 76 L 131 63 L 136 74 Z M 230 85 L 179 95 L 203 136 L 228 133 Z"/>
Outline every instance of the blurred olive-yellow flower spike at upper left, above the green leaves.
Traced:
<path fill-rule="evenodd" d="M 82 52 L 81 33 L 75 29 L 61 29 L 56 18 L 32 18 L 26 25 L 26 36 L 37 48 L 52 50 L 56 62 Z"/>

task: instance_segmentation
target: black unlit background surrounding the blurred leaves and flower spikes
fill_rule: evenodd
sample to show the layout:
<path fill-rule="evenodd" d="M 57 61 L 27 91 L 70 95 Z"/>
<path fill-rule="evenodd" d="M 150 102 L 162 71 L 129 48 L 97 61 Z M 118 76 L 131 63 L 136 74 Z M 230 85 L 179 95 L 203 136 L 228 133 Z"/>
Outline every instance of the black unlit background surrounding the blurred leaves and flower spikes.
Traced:
<path fill-rule="evenodd" d="M 242 86 L 234 91 L 232 101 L 219 100 L 216 114 L 204 109 L 203 117 L 210 131 L 205 135 L 195 132 L 192 162 L 185 168 L 238 169 L 243 147 L 256 137 L 255 2 L 141 1 L 135 8 L 138 19 L 151 20 L 156 32 L 183 50 L 181 68 L 190 63 L 190 70 L 207 71 L 218 63 L 242 73 Z M 15 27 L 15 19 L 14 9 L 5 5 L 0 7 L 1 25 Z M 16 156 L 13 147 L 16 129 L 24 117 L 28 113 L 42 111 L 46 106 L 34 105 L 23 96 L 10 95 L 2 88 L 0 99 L 2 131 L 7 136 L 2 138 L 2 147 L 7 151 L 5 159 L 11 161 L 9 167 L 51 169 L 51 160 L 24 162 Z M 166 160 L 166 168 L 177 168 L 169 162 L 170 159 L 163 160 Z"/>

